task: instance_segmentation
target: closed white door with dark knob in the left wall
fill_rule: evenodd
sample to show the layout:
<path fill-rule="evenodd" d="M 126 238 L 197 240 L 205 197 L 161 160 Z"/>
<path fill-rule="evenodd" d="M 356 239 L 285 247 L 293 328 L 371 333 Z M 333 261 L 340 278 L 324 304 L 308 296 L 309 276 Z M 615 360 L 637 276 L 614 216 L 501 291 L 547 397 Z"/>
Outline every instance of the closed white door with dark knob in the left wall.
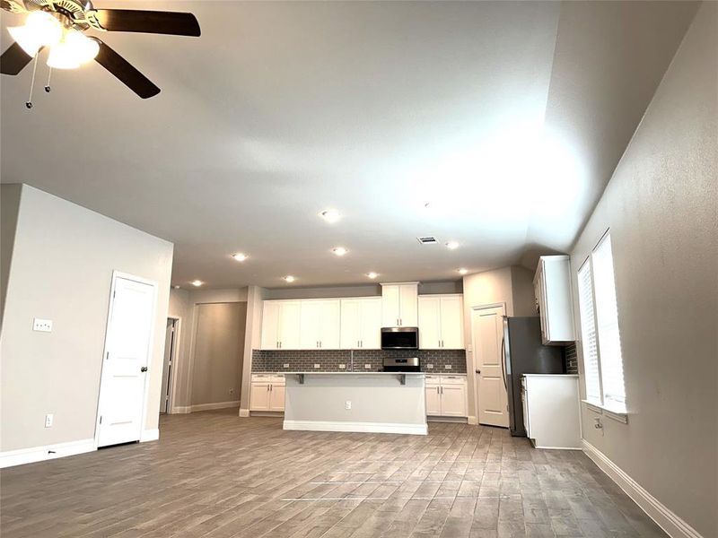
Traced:
<path fill-rule="evenodd" d="M 156 286 L 114 277 L 100 387 L 98 447 L 142 433 Z"/>

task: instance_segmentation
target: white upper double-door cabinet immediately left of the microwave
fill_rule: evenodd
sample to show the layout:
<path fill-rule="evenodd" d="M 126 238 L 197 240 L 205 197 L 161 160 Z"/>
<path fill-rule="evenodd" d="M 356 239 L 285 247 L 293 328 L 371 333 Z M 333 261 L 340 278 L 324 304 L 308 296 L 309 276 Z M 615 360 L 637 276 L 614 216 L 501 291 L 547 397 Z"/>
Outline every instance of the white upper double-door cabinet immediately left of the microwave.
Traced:
<path fill-rule="evenodd" d="M 341 299 L 341 349 L 381 348 L 381 299 Z"/>

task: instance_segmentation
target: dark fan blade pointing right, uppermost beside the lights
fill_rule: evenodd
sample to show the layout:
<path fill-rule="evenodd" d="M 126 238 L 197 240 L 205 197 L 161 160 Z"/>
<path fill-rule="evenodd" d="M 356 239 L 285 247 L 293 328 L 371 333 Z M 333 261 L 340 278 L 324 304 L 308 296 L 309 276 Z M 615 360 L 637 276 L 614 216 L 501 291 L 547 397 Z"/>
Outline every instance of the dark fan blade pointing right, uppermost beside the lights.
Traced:
<path fill-rule="evenodd" d="M 109 31 L 140 31 L 199 37 L 199 22 L 192 13 L 153 12 L 134 9 L 98 9 L 97 20 Z"/>

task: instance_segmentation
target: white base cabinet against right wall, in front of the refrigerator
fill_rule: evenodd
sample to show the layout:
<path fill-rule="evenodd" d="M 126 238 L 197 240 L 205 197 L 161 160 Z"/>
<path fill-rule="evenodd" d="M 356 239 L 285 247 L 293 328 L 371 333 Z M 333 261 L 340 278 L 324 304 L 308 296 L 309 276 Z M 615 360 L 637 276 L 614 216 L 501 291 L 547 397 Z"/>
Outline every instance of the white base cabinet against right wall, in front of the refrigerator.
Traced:
<path fill-rule="evenodd" d="M 524 374 L 521 402 L 526 437 L 537 448 L 581 448 L 578 376 Z"/>

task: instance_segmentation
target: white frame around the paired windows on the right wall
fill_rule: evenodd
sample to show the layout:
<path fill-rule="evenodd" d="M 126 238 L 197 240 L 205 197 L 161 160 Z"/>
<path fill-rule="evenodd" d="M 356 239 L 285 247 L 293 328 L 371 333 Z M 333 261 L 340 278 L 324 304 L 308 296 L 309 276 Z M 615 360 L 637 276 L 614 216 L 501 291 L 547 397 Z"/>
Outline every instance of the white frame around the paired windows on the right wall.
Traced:
<path fill-rule="evenodd" d="M 615 419 L 620 422 L 627 423 L 628 422 L 628 407 L 627 403 L 624 403 L 624 408 L 622 410 L 618 410 L 616 406 L 606 404 L 606 394 L 603 389 L 603 364 L 601 360 L 601 354 L 600 354 L 600 334 L 599 334 L 599 318 L 598 318 L 598 306 L 596 301 L 596 273 L 593 265 L 593 255 L 596 252 L 596 249 L 600 247 L 600 245 L 606 240 L 610 240 L 610 229 L 606 230 L 601 236 L 600 239 L 596 242 L 596 244 L 591 248 L 591 252 L 585 257 L 582 264 L 579 265 L 577 271 L 576 271 L 576 291 L 578 291 L 580 286 L 580 276 L 579 273 L 581 273 L 583 267 L 586 266 L 586 264 L 589 264 L 589 270 L 591 272 L 591 309 L 593 314 L 593 330 L 596 334 L 596 357 L 598 361 L 598 385 L 599 385 L 599 400 L 589 398 L 588 397 L 588 379 L 586 377 L 586 357 L 583 352 L 583 343 L 585 339 L 585 335 L 583 334 L 583 320 L 581 317 L 581 294 L 579 293 L 578 297 L 578 309 L 579 309 L 579 333 L 581 334 L 581 346 L 577 346 L 581 348 L 581 366 L 583 370 L 583 385 L 584 385 L 584 391 L 586 394 L 586 398 L 582 399 L 582 402 L 586 404 L 592 411 L 599 412 L 601 414 L 606 414 L 606 416 L 609 416 L 612 419 Z M 613 265 L 613 244 L 611 244 L 611 265 Z M 615 267 L 613 267 L 614 273 L 615 273 Z M 615 278 L 615 277 L 614 277 Z M 616 282 L 614 280 L 614 288 L 616 286 Z M 620 344 L 620 325 L 618 326 L 618 343 Z M 624 360 L 623 360 L 623 350 L 621 350 L 621 366 L 623 367 Z M 625 371 L 625 370 L 624 370 Z M 626 395 L 626 376 L 625 373 L 623 375 L 623 384 L 624 384 L 624 399 L 627 401 L 627 395 Z"/>

